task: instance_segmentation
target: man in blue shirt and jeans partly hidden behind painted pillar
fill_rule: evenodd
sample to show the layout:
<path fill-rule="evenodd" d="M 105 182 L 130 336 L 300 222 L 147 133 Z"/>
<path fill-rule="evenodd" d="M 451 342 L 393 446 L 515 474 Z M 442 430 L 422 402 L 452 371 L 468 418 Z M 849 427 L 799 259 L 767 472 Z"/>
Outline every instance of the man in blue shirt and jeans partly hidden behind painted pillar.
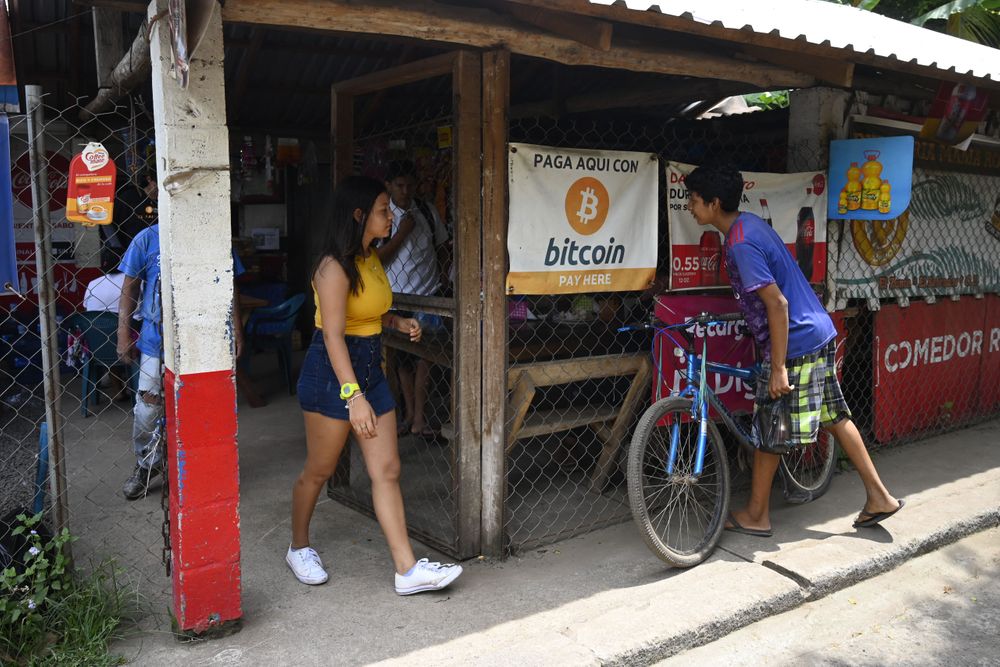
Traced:
<path fill-rule="evenodd" d="M 138 351 L 139 381 L 135 397 L 135 421 L 132 424 L 132 449 L 135 469 L 122 489 L 128 500 L 146 495 L 150 484 L 163 474 L 163 309 L 160 301 L 160 226 L 147 227 L 132 239 L 119 270 L 125 274 L 118 307 L 118 356 L 136 361 Z M 239 257 L 233 253 L 233 275 L 244 272 Z M 142 291 L 139 316 L 142 326 L 139 339 L 132 340 L 131 317 L 136 298 Z M 233 327 L 236 355 L 243 347 L 239 299 L 233 298 Z"/>

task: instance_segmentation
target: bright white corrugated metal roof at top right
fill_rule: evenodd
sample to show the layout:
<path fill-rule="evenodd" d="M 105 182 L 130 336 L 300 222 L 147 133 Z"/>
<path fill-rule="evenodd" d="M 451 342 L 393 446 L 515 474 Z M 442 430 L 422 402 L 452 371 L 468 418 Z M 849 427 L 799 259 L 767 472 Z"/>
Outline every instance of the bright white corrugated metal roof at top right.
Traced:
<path fill-rule="evenodd" d="M 590 0 L 1000 81 L 1000 50 L 822 0 Z"/>

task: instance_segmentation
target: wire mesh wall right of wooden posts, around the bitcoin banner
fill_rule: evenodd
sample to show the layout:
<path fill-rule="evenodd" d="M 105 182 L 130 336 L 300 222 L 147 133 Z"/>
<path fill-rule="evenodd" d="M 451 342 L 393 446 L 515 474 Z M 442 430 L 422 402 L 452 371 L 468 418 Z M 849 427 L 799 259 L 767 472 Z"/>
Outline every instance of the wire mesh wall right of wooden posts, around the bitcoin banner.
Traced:
<path fill-rule="evenodd" d="M 825 170 L 826 156 L 815 148 L 789 145 L 787 113 L 758 115 L 755 131 L 747 131 L 753 125 L 748 126 L 746 119 L 734 118 L 650 122 L 607 116 L 596 120 L 522 117 L 511 122 L 509 138 L 556 147 L 654 151 L 661 166 L 666 161 L 728 162 L 743 171 Z M 842 382 L 870 448 L 960 428 L 1000 412 L 995 391 L 977 398 L 983 389 L 995 385 L 1000 367 L 998 299 L 982 298 L 984 293 L 1000 291 L 998 185 L 996 176 L 975 169 L 956 172 L 918 166 L 908 220 L 829 223 L 829 280 L 817 289 L 821 300 L 839 311 L 836 319 L 845 330 L 845 354 L 839 361 Z M 653 312 L 652 297 L 668 291 L 667 199 L 661 173 L 658 279 L 650 290 L 510 297 L 509 373 L 532 367 L 534 386 L 526 389 L 509 383 L 504 514 L 508 552 L 629 516 L 621 461 L 635 419 L 649 404 L 649 385 L 640 392 L 640 400 L 629 405 L 625 395 L 630 377 L 635 376 L 600 376 L 614 372 L 619 361 L 630 355 L 648 356 L 648 340 L 637 340 L 641 337 L 634 333 L 619 334 L 616 329 L 648 318 Z M 909 246 L 903 242 L 907 225 L 920 239 L 916 243 L 911 239 Z M 880 263 L 889 253 L 896 255 L 895 261 Z M 890 264 L 896 266 L 890 268 Z M 894 273 L 912 276 L 911 283 L 903 288 L 905 283 L 894 281 Z M 918 287 L 921 284 L 934 287 Z M 942 298 L 959 301 L 946 312 Z M 921 303 L 912 303 L 914 299 Z M 922 303 L 925 299 L 928 304 Z M 904 318 L 925 308 L 922 333 L 906 333 Z M 890 312 L 894 310 L 900 312 Z M 949 333 L 934 328 L 939 317 L 952 313 L 968 313 L 972 319 L 968 331 Z M 885 341 L 890 332 L 900 340 Z M 966 361 L 965 371 L 960 365 L 949 365 L 960 356 Z M 603 360 L 603 371 L 583 380 L 567 374 L 567 368 L 580 367 L 595 357 Z M 900 367 L 912 371 L 918 365 L 925 380 L 919 380 L 917 373 L 905 381 L 887 383 L 887 374 Z M 655 386 L 659 389 L 659 382 Z M 610 437 L 610 427 L 619 416 L 627 428 Z M 739 448 L 729 444 L 730 452 L 739 456 Z M 738 473 L 745 466 L 731 468 Z M 737 481 L 738 486 L 745 483 L 745 479 Z"/>

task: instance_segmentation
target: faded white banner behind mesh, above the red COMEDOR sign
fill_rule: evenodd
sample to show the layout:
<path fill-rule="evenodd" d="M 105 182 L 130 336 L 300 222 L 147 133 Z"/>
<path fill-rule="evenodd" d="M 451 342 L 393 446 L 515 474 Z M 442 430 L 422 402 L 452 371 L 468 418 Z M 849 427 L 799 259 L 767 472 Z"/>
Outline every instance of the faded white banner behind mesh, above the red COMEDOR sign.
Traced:
<path fill-rule="evenodd" d="M 836 295 L 896 298 L 1000 292 L 1000 177 L 916 168 L 908 210 L 847 220 Z"/>

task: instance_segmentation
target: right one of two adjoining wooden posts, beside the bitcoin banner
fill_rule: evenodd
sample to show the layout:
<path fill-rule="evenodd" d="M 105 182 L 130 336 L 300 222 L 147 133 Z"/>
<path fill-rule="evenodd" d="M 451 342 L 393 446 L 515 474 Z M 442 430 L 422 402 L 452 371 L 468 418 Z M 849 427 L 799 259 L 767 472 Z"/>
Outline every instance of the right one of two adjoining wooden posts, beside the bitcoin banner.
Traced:
<path fill-rule="evenodd" d="M 483 57 L 483 533 L 482 551 L 503 555 L 507 405 L 507 120 L 510 52 Z"/>

